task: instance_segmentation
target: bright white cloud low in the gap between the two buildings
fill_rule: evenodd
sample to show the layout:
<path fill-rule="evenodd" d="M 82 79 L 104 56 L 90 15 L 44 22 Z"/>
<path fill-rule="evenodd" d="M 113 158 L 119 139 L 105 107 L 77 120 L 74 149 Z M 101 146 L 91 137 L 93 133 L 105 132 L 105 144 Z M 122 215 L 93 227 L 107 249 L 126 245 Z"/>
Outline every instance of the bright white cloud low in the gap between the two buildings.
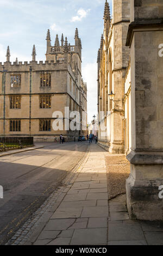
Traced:
<path fill-rule="evenodd" d="M 87 83 L 87 114 L 88 122 L 97 116 L 97 63 L 87 63 L 82 69 L 84 82 Z"/>

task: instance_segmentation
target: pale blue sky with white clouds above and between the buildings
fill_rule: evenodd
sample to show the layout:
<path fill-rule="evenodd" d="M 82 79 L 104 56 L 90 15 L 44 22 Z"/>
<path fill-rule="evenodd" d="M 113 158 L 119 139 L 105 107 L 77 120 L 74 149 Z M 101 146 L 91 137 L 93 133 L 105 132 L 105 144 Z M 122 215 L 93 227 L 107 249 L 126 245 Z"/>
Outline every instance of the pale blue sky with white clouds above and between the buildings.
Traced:
<path fill-rule="evenodd" d="M 111 7 L 111 0 L 108 1 Z M 32 59 L 36 46 L 36 60 L 45 60 L 47 29 L 55 35 L 67 36 L 74 44 L 76 27 L 82 39 L 82 70 L 87 82 L 88 120 L 97 113 L 97 51 L 103 33 L 105 0 L 0 0 L 0 62 L 5 61 L 10 46 L 11 62 Z"/>

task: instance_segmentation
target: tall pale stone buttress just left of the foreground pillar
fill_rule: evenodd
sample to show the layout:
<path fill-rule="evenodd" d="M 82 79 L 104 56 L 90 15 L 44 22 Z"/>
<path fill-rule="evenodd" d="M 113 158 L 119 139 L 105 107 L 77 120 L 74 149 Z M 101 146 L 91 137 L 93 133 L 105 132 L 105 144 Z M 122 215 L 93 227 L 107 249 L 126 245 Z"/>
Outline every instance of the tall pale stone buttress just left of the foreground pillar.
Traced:
<path fill-rule="evenodd" d="M 113 130 L 111 131 L 110 152 L 124 153 L 123 134 L 123 97 L 124 97 L 124 76 L 128 65 L 130 50 L 126 47 L 126 36 L 130 19 L 129 1 L 113 1 L 113 71 L 112 91 L 115 93 L 113 103 L 115 111 L 112 112 Z"/>

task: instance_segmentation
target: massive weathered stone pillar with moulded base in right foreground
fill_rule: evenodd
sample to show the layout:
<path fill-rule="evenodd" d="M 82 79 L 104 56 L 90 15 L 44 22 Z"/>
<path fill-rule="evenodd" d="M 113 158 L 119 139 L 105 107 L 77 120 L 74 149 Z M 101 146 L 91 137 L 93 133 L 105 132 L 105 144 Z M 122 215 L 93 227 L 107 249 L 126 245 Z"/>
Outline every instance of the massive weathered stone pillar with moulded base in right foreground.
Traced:
<path fill-rule="evenodd" d="M 131 54 L 132 135 L 127 207 L 131 218 L 163 220 L 159 190 L 163 185 L 163 1 L 131 0 L 130 12 L 126 45 Z"/>

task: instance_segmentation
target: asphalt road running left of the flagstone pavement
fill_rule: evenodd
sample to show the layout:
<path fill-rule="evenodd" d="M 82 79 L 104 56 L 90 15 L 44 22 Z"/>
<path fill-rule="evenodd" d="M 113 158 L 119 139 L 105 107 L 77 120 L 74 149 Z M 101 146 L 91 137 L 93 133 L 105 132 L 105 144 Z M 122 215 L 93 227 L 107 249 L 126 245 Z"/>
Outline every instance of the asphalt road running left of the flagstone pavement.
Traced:
<path fill-rule="evenodd" d="M 0 244 L 4 245 L 85 155 L 87 142 L 41 143 L 44 148 L 0 158 Z"/>

